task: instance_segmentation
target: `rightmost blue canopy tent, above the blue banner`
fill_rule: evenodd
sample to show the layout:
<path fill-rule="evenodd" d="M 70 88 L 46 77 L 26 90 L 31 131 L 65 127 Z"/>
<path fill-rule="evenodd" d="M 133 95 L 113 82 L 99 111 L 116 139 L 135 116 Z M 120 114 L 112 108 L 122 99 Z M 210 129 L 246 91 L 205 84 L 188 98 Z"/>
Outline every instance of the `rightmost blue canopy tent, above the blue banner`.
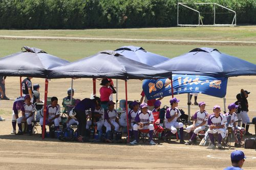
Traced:
<path fill-rule="evenodd" d="M 223 80 L 234 76 L 256 75 L 255 64 L 208 47 L 195 48 L 186 54 L 156 64 L 154 67 L 170 70 L 173 74 L 207 76 Z M 188 92 L 197 93 L 198 91 Z"/>

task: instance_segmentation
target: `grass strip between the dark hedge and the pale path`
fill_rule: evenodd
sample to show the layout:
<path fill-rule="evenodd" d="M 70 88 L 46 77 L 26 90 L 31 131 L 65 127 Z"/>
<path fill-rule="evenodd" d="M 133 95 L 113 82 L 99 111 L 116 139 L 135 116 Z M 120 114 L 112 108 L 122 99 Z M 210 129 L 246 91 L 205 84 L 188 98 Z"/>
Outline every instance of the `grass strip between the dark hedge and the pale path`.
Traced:
<path fill-rule="evenodd" d="M 0 35 L 256 41 L 256 27 L 173 27 L 100 30 L 0 30 Z"/>

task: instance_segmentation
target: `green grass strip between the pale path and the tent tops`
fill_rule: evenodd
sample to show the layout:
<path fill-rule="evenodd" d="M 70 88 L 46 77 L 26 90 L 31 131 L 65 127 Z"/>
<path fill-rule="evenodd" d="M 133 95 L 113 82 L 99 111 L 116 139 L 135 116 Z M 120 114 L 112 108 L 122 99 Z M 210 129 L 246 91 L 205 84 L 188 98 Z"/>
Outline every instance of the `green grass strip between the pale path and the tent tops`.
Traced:
<path fill-rule="evenodd" d="M 145 50 L 169 58 L 177 57 L 196 47 L 208 46 L 256 64 L 255 46 L 225 46 L 225 45 L 175 45 L 154 43 L 123 43 L 123 42 L 84 42 L 84 41 L 54 41 L 54 40 L 0 40 L 0 57 L 20 52 L 22 46 L 33 46 L 68 61 L 88 57 L 103 50 L 116 50 L 123 45 L 142 46 Z"/>

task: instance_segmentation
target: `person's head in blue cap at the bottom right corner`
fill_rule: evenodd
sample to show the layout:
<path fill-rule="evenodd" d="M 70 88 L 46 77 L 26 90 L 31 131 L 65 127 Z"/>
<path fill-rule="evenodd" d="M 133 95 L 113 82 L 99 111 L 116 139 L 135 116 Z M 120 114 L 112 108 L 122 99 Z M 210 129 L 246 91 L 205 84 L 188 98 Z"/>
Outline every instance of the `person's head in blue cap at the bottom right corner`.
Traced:
<path fill-rule="evenodd" d="M 230 154 L 232 166 L 226 167 L 224 170 L 243 170 L 244 159 L 246 159 L 243 151 L 233 151 Z"/>

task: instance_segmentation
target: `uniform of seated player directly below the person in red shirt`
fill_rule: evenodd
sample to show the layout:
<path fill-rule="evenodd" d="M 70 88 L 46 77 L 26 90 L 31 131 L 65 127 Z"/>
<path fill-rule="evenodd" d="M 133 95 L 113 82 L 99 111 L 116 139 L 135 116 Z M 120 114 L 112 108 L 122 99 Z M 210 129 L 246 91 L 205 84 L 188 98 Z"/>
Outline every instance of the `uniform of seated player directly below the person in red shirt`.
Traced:
<path fill-rule="evenodd" d="M 112 111 L 106 110 L 105 122 L 104 122 L 104 126 L 106 127 L 106 132 L 111 131 L 111 125 L 108 123 L 108 119 L 110 120 L 111 124 L 114 125 L 115 131 L 119 130 L 119 125 L 116 122 L 116 117 L 117 117 L 117 111 L 115 109 Z"/>

